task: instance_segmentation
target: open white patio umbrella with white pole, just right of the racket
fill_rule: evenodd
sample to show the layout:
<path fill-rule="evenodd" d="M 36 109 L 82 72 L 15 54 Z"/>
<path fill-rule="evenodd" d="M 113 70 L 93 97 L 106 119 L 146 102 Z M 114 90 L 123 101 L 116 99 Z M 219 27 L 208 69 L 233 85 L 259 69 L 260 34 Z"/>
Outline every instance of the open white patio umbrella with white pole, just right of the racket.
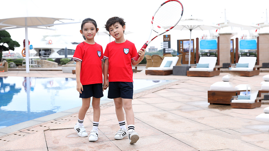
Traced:
<path fill-rule="evenodd" d="M 189 66 L 191 61 L 191 31 L 193 30 L 212 30 L 220 29 L 218 25 L 207 25 L 203 23 L 202 19 L 188 18 L 183 19 L 178 22 L 178 24 L 173 28 L 177 30 L 189 30 L 190 31 L 190 44 L 189 44 Z"/>

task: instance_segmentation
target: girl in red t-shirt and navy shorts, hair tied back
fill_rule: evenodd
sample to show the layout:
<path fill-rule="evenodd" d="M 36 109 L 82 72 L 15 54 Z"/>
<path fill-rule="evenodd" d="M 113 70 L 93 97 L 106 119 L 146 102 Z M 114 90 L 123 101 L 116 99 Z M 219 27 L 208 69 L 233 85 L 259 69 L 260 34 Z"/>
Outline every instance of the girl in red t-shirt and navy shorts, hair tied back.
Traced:
<path fill-rule="evenodd" d="M 80 33 L 84 42 L 78 44 L 73 60 L 76 61 L 77 91 L 82 98 L 82 107 L 78 112 L 78 122 L 75 124 L 75 131 L 80 137 L 87 137 L 88 134 L 83 126 L 85 114 L 90 107 L 91 97 L 93 106 L 93 129 L 89 141 L 97 141 L 98 124 L 100 119 L 100 98 L 103 95 L 103 48 L 94 41 L 98 31 L 95 20 L 86 18 L 82 21 Z"/>

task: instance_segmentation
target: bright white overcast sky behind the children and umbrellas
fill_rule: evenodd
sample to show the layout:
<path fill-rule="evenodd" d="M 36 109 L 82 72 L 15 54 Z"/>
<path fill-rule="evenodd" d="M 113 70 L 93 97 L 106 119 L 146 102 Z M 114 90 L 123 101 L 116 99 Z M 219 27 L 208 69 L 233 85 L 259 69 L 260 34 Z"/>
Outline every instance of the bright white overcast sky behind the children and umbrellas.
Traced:
<path fill-rule="evenodd" d="M 107 19 L 119 16 L 126 21 L 126 31 L 133 32 L 125 35 L 125 39 L 130 40 L 137 49 L 140 49 L 148 40 L 152 15 L 163 2 L 164 0 L 0 0 L 2 6 L 0 19 L 43 16 L 82 21 L 85 18 L 93 18 L 96 20 L 100 31 L 105 31 L 103 27 Z M 180 2 L 183 4 L 183 17 L 181 19 L 189 18 L 192 15 L 195 18 L 203 19 L 207 24 L 214 25 L 224 22 L 224 9 L 226 9 L 227 20 L 233 23 L 244 25 L 262 23 L 266 19 L 265 12 L 269 6 L 268 0 L 180 0 Z M 70 42 L 82 42 L 83 38 L 79 32 L 80 25 L 81 23 L 58 25 L 56 26 L 57 31 L 29 28 L 28 38 L 33 46 L 39 42 L 43 35 L 49 34 L 69 35 Z M 15 49 L 16 52 L 21 52 L 25 39 L 25 29 L 9 29 L 7 31 L 13 40 L 21 44 L 21 47 Z M 243 31 L 234 37 L 240 37 L 242 33 Z M 171 35 L 171 48 L 175 50 L 177 49 L 177 40 L 189 39 L 189 31 L 171 30 L 166 34 Z M 209 36 L 208 31 L 193 31 L 191 38 L 201 38 L 203 34 Z M 113 38 L 111 38 L 112 40 Z M 158 37 L 149 46 L 161 49 L 162 41 L 162 36 Z M 105 49 L 109 42 L 109 36 L 97 35 L 95 36 L 95 42 L 101 44 Z"/>

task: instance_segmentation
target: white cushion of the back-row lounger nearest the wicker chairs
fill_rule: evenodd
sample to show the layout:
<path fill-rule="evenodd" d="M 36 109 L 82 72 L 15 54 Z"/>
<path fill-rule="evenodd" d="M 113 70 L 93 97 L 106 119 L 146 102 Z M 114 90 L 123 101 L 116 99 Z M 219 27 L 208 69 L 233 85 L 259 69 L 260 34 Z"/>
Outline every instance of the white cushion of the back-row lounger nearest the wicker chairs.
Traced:
<path fill-rule="evenodd" d="M 165 67 L 167 61 L 172 61 L 169 67 Z M 164 57 L 160 67 L 148 67 L 148 70 L 173 70 L 173 66 L 176 66 L 178 57 Z"/>

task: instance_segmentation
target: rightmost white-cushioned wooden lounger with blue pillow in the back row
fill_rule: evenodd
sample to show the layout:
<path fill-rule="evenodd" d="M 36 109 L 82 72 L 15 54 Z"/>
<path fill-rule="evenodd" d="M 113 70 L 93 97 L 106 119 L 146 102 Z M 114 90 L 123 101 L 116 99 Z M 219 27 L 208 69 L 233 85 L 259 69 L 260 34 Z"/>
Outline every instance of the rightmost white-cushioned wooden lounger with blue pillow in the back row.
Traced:
<path fill-rule="evenodd" d="M 252 77 L 259 75 L 260 68 L 255 67 L 257 57 L 239 57 L 236 67 L 230 68 L 230 73 L 237 73 L 240 76 Z"/>

